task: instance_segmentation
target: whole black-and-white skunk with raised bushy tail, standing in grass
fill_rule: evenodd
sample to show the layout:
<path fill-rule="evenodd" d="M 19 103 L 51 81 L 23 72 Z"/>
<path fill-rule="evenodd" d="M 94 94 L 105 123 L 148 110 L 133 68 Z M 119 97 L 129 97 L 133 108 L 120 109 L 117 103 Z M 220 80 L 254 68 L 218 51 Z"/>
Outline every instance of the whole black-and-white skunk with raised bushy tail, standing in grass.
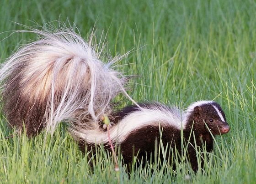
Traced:
<path fill-rule="evenodd" d="M 33 30 L 40 36 L 10 56 L 0 69 L 3 109 L 11 127 L 29 136 L 43 128 L 53 132 L 57 124 L 69 123 L 71 135 L 85 145 L 104 144 L 107 132 L 101 117 L 112 120 L 110 138 L 120 146 L 125 163 L 146 152 L 154 153 L 155 140 L 181 153 L 181 129 L 187 154 L 197 170 L 195 143 L 212 151 L 213 135 L 229 132 L 224 112 L 213 101 L 192 103 L 186 112 L 159 103 L 138 105 L 126 93 L 126 78 L 113 70 L 118 58 L 100 61 L 91 41 L 86 43 L 72 29 L 57 32 Z M 112 99 L 123 92 L 135 106 L 112 111 Z M 191 133 L 194 133 L 191 136 Z M 211 132 L 211 133 L 210 133 Z M 89 148 L 90 149 L 90 148 Z"/>

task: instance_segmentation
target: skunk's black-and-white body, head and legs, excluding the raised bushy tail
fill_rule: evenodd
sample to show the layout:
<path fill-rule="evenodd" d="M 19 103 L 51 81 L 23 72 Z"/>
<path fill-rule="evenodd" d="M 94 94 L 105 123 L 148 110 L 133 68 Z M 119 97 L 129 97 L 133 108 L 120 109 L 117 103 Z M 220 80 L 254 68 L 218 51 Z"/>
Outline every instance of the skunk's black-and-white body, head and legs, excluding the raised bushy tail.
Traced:
<path fill-rule="evenodd" d="M 183 128 L 184 141 L 187 143 L 187 156 L 193 170 L 198 169 L 197 147 L 203 149 L 206 144 L 207 152 L 213 150 L 213 136 L 229 132 L 225 114 L 218 103 L 213 101 L 198 101 L 192 103 L 186 110 L 181 111 L 176 107 L 167 107 L 160 103 L 140 104 L 140 107 L 125 107 L 112 117 L 114 125 L 110 129 L 110 137 L 116 146 L 120 146 L 123 160 L 129 164 L 133 156 L 138 160 L 145 158 L 146 153 L 155 153 L 155 140 L 161 140 L 164 148 L 167 143 L 181 155 L 181 128 Z M 211 133 L 213 136 L 211 135 Z M 191 133 L 194 133 L 191 136 Z M 81 129 L 73 132 L 80 139 L 80 148 L 95 148 L 95 145 L 108 146 L 107 132 L 98 130 Z M 96 143 L 96 144 L 95 144 Z M 183 153 L 184 155 L 184 153 Z M 171 155 L 170 155 L 171 156 Z M 203 159 L 202 159 L 203 167 Z"/>

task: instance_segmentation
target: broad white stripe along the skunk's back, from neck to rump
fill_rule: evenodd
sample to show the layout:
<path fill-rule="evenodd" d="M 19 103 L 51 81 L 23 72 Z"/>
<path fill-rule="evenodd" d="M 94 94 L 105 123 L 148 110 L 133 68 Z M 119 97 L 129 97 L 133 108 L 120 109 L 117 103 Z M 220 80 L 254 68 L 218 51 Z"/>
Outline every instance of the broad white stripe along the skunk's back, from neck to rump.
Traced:
<path fill-rule="evenodd" d="M 156 106 L 151 108 L 141 108 L 138 111 L 130 112 L 116 125 L 110 128 L 110 138 L 113 142 L 122 143 L 128 135 L 136 129 L 144 126 L 173 126 L 177 129 L 184 127 L 186 122 L 182 122 L 184 112 L 172 107 Z M 182 124 L 183 123 L 183 124 Z M 83 138 L 87 143 L 108 143 L 107 132 L 99 130 L 72 131 L 75 137 Z"/>

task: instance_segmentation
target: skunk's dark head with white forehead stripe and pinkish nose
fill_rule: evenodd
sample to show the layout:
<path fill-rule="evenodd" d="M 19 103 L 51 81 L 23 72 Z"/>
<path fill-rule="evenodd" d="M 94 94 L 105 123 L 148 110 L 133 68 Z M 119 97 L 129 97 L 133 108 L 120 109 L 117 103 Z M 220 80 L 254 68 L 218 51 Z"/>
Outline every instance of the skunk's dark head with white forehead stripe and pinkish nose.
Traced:
<path fill-rule="evenodd" d="M 223 110 L 218 103 L 213 101 L 192 103 L 187 108 L 187 121 L 188 124 L 194 122 L 195 129 L 199 131 L 200 129 L 208 131 L 209 128 L 213 135 L 229 132 L 229 124 L 226 121 Z"/>

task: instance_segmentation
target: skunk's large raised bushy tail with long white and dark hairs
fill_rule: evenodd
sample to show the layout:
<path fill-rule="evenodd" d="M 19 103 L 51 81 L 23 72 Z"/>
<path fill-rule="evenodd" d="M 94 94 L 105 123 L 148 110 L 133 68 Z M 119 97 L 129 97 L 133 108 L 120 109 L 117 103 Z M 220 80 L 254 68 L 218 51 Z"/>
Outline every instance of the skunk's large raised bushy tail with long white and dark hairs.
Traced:
<path fill-rule="evenodd" d="M 61 121 L 93 128 L 110 101 L 124 90 L 125 77 L 99 59 L 94 47 L 72 29 L 32 32 L 40 40 L 21 47 L 0 69 L 6 118 L 28 135 Z"/>

